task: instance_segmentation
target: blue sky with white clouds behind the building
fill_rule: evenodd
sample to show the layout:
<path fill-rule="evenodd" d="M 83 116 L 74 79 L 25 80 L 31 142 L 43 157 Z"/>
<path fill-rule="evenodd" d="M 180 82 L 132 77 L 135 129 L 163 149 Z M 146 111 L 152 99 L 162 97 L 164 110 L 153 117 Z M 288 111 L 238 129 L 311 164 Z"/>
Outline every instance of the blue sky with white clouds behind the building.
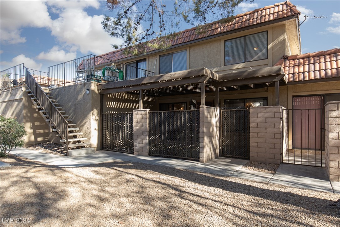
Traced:
<path fill-rule="evenodd" d="M 282 1 L 282 0 L 281 0 Z M 243 3 L 244 13 L 280 0 Z M 292 0 L 307 20 L 301 25 L 302 52 L 340 48 L 339 0 Z M 88 54 L 114 50 L 120 40 L 109 37 L 101 26 L 104 14 L 111 15 L 106 1 L 15 1 L 0 0 L 0 68 L 24 63 L 28 68 L 47 71 L 48 66 Z M 167 3 L 171 5 L 170 1 Z M 313 16 L 326 18 L 314 19 Z M 181 30 L 191 28 L 183 25 Z"/>

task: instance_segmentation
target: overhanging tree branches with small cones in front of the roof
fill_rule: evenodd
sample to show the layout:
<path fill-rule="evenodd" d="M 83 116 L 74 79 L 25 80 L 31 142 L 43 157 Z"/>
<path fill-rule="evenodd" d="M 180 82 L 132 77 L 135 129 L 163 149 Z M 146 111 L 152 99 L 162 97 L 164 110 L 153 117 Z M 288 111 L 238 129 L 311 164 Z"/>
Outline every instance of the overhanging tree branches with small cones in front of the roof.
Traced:
<path fill-rule="evenodd" d="M 254 0 L 107 0 L 114 15 L 105 15 L 101 23 L 111 37 L 121 40 L 121 45 L 113 45 L 115 49 L 139 55 L 147 48 L 169 48 L 170 41 L 180 35 L 176 32 L 182 23 L 197 26 L 197 32 L 203 33 L 209 22 L 233 20 L 237 6 L 246 1 Z"/>

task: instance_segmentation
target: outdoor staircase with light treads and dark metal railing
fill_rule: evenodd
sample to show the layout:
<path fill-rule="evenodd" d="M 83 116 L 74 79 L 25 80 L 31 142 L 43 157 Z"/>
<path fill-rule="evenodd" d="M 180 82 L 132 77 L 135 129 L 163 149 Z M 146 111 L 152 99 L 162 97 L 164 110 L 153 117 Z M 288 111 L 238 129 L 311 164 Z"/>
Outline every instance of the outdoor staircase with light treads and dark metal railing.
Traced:
<path fill-rule="evenodd" d="M 81 137 L 83 133 L 79 132 L 76 124 L 72 123 L 72 119 L 68 118 L 69 116 L 65 114 L 62 107 L 59 107 L 59 103 L 55 102 L 50 93 L 45 92 L 40 87 L 27 69 L 26 85 L 28 87 L 26 92 L 31 97 L 36 110 L 49 124 L 52 132 L 55 132 L 56 136 L 60 137 L 60 143 L 67 151 L 67 156 L 94 152 L 94 148 L 86 147 L 91 143 L 83 142 L 87 138 Z"/>

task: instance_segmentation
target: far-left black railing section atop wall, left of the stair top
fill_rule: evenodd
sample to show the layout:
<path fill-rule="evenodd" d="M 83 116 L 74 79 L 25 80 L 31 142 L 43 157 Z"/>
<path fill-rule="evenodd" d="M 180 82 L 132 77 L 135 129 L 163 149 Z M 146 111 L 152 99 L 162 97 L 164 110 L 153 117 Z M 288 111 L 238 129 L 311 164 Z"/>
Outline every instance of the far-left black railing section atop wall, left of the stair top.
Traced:
<path fill-rule="evenodd" d="M 20 86 L 25 82 L 23 63 L 0 72 L 0 91 Z"/>

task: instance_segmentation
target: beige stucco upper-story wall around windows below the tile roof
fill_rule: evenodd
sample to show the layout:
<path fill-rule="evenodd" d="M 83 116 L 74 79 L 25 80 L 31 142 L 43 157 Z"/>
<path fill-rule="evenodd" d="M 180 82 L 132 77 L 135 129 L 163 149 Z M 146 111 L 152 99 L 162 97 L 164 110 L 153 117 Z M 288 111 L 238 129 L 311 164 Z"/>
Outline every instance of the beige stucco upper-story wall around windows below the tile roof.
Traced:
<path fill-rule="evenodd" d="M 294 26 L 295 20 L 293 19 L 289 23 L 291 26 Z M 159 55 L 187 50 L 188 69 L 206 67 L 221 74 L 229 71 L 245 70 L 249 69 L 249 67 L 253 69 L 258 69 L 273 66 L 279 61 L 279 59 L 282 58 L 282 56 L 289 52 L 289 47 L 292 45 L 291 42 L 298 42 L 296 41 L 296 32 L 295 35 L 288 36 L 286 33 L 287 30 L 289 30 L 290 32 L 294 31 L 291 27 L 286 26 L 286 22 L 280 22 L 273 25 L 238 31 L 228 35 L 202 40 L 200 42 L 187 44 L 185 46 L 170 48 L 166 51 L 159 51 L 152 54 L 138 56 L 136 58 L 125 60 L 123 61 L 123 63 L 146 58 L 148 70 L 155 72 L 155 74 L 157 75 L 159 73 Z M 268 32 L 268 59 L 224 66 L 225 40 L 263 31 Z M 296 51 L 293 52 L 295 53 Z"/>

